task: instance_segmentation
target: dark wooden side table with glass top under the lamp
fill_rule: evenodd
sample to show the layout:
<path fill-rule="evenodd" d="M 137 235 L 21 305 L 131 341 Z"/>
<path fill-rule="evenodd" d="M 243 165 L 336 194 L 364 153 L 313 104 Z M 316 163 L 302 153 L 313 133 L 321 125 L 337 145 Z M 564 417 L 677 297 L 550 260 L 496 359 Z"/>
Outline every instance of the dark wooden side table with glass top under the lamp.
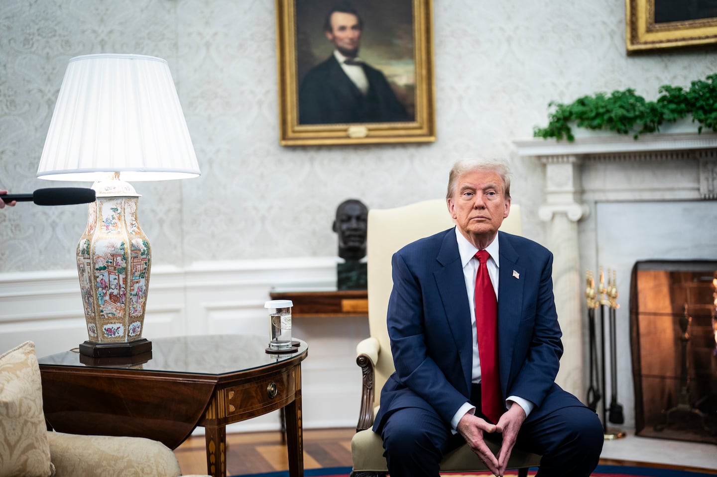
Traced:
<path fill-rule="evenodd" d="M 125 360 L 62 352 L 40 358 L 44 415 L 59 432 L 129 435 L 177 448 L 206 430 L 206 466 L 227 475 L 226 425 L 282 409 L 289 475 L 303 477 L 301 362 L 270 355 L 267 337 L 225 334 L 151 339 L 152 351 Z"/>

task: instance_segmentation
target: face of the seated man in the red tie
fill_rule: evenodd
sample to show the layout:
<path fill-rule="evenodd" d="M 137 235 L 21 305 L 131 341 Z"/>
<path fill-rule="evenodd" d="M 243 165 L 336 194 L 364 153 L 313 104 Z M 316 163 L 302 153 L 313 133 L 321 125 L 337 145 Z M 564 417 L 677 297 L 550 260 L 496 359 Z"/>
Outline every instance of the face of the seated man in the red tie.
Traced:
<path fill-rule="evenodd" d="M 500 175 L 488 171 L 471 171 L 461 175 L 448 210 L 458 230 L 479 249 L 493 241 L 503 218 L 508 217 L 511 200 L 503 194 Z"/>

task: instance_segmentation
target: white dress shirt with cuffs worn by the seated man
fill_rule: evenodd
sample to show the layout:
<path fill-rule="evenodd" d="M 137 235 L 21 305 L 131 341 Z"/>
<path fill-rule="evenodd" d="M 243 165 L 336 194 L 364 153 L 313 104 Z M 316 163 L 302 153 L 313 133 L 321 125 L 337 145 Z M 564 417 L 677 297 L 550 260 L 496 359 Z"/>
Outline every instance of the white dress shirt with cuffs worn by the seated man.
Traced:
<path fill-rule="evenodd" d="M 476 249 L 475 246 L 471 244 L 468 239 L 462 235 L 462 233 L 460 233 L 457 227 L 455 227 L 455 236 L 458 242 L 460 263 L 463 266 L 465 291 L 467 291 L 468 297 L 471 297 L 471 299 L 468 300 L 468 305 L 470 307 L 470 327 L 473 330 L 473 375 L 471 377 L 471 382 L 479 383 L 480 355 L 478 355 L 478 331 L 475 328 L 475 299 L 473 299 L 475 296 L 475 275 L 478 273 L 478 264 L 480 263 L 478 259 L 475 258 L 475 254 L 478 252 L 478 249 Z M 498 236 L 496 235 L 495 238 L 498 238 Z M 490 275 L 490 282 L 493 284 L 495 297 L 498 297 L 498 270 L 500 269 L 498 240 L 494 239 L 490 244 L 488 244 L 488 246 L 485 247 L 485 251 L 490 254 L 490 259 L 488 259 L 486 265 L 488 266 L 488 275 Z M 533 410 L 533 407 L 535 406 L 530 401 L 523 399 L 523 397 L 508 396 L 508 399 L 505 400 L 505 407 L 510 408 L 513 403 L 516 403 L 523 408 L 526 412 L 526 417 L 528 417 L 528 414 L 531 413 L 531 410 Z M 454 433 L 456 432 L 455 429 L 458 426 L 460 418 L 462 418 L 465 413 L 475 414 L 475 406 L 471 403 L 465 403 L 460 407 L 460 409 L 458 409 L 458 412 L 455 413 L 451 420 L 451 427 Z"/>

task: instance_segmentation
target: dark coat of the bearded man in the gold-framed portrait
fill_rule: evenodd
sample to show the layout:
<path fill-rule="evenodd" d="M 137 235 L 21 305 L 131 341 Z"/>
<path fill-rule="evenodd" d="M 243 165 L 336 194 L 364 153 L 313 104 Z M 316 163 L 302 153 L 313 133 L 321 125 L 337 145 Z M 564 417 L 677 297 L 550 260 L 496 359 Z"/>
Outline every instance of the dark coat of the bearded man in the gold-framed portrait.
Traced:
<path fill-rule="evenodd" d="M 408 121 L 406 108 L 378 69 L 363 64 L 369 92 L 364 96 L 331 55 L 309 70 L 299 88 L 299 124 Z"/>

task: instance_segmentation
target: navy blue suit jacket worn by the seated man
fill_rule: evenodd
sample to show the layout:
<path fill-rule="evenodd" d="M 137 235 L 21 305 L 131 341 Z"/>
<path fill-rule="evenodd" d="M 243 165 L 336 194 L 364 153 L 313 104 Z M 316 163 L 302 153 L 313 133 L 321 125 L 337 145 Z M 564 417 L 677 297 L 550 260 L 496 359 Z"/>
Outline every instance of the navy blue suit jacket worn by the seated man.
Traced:
<path fill-rule="evenodd" d="M 536 407 L 529 420 L 584 406 L 555 384 L 563 352 L 553 296 L 553 255 L 527 238 L 498 232 L 498 350 L 503 398 Z M 473 335 L 453 228 L 394 254 L 387 314 L 396 371 L 381 390 L 374 431 L 400 408 L 434 409 L 450 420 L 470 397 Z M 473 299 L 473 297 L 470 297 Z"/>

